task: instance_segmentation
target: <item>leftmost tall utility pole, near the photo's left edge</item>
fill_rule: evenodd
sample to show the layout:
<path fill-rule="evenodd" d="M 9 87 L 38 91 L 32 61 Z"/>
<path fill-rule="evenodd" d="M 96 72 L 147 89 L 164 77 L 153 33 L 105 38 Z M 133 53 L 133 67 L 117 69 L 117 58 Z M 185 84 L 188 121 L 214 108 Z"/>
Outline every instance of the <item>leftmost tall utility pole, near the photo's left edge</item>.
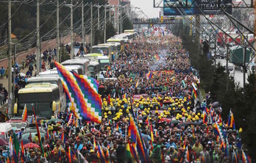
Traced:
<path fill-rule="evenodd" d="M 9 53 L 9 62 L 8 62 L 8 93 L 9 93 L 9 99 L 10 98 L 10 94 L 12 93 L 12 7 L 11 7 L 11 0 L 8 1 L 8 53 Z M 15 72 L 13 70 L 13 72 Z M 9 103 L 9 102 L 8 102 Z M 8 107 L 8 109 L 10 109 Z M 13 109 L 10 109 L 13 110 Z M 11 112 L 11 114 L 13 115 L 13 111 Z"/>

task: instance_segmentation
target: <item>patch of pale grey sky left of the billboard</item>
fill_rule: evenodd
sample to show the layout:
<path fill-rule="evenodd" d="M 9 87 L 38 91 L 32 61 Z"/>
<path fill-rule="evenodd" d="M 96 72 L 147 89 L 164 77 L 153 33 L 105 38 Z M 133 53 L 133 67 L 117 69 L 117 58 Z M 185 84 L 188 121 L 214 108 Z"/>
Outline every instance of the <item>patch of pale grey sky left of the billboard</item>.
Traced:
<path fill-rule="evenodd" d="M 154 8 L 154 0 L 129 0 L 132 7 L 140 7 L 149 18 L 159 17 L 160 8 Z M 132 9 L 134 10 L 134 9 Z M 135 11 L 139 11 L 136 9 Z"/>

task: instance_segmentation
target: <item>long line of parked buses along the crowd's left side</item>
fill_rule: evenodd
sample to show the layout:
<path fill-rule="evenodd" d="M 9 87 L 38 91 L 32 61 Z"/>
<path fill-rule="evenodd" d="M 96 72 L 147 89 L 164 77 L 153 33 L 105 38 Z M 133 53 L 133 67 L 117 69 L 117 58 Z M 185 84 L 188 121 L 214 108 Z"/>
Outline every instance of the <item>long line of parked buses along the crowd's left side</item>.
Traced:
<path fill-rule="evenodd" d="M 79 75 L 90 76 L 98 81 L 105 80 L 102 74 L 106 72 L 110 62 L 114 62 L 125 51 L 127 42 L 132 41 L 137 35 L 136 30 L 125 30 L 123 34 L 111 37 L 107 43 L 93 46 L 91 54 L 74 57 L 61 64 Z M 13 107 L 13 115 L 9 116 L 21 116 L 25 104 L 28 116 L 33 115 L 32 107 L 34 107 L 35 114 L 46 120 L 59 112 L 66 111 L 68 105 L 56 68 L 43 71 L 39 76 L 28 79 L 26 86 L 18 91 L 18 101 Z"/>

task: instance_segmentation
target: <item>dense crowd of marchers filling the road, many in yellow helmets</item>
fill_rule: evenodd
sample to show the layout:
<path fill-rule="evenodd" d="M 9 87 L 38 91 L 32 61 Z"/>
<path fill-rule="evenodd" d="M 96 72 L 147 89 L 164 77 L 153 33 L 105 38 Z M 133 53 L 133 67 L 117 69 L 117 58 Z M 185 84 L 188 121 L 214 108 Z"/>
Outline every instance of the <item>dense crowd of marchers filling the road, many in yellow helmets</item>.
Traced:
<path fill-rule="evenodd" d="M 44 154 L 26 148 L 25 161 L 102 162 L 100 147 L 106 162 L 135 162 L 127 148 L 133 115 L 149 162 L 233 162 L 234 156 L 242 162 L 241 131 L 222 122 L 214 101 L 202 99 L 199 74 L 188 57 L 174 35 L 135 38 L 108 70 L 117 80 L 100 82 L 102 123 L 76 120 L 68 113 L 57 115 L 60 122 L 41 121 L 47 133 Z M 217 125 L 224 136 L 216 132 Z M 37 135 L 30 141 L 40 146 Z M 5 162 L 8 155 L 1 151 Z"/>

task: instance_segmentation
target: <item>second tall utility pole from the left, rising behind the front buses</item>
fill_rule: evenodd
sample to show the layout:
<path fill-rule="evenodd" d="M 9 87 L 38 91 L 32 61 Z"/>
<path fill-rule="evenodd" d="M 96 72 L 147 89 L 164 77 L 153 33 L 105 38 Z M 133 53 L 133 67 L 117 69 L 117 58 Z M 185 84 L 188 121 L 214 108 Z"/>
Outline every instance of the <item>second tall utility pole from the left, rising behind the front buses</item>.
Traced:
<path fill-rule="evenodd" d="M 39 1 L 37 0 L 37 76 L 40 73 L 40 29 L 39 29 L 39 23 L 40 23 L 40 17 L 39 17 Z"/>

